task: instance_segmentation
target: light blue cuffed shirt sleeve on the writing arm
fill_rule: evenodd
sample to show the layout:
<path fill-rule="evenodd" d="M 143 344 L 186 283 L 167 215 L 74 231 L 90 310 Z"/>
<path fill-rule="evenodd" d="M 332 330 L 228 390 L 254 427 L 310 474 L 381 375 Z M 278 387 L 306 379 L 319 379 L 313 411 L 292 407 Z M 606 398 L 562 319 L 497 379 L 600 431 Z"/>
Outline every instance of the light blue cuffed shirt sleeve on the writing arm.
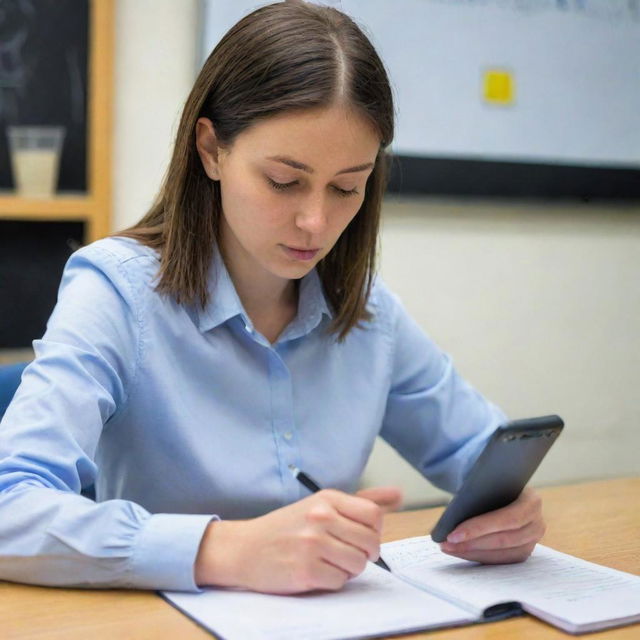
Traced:
<path fill-rule="evenodd" d="M 140 359 L 140 296 L 122 261 L 71 257 L 35 361 L 0 423 L 0 579 L 196 590 L 208 515 L 151 514 L 81 495 L 104 430 L 126 411 Z M 144 258 L 141 258 L 144 259 Z M 96 263 L 101 265 L 96 266 Z"/>

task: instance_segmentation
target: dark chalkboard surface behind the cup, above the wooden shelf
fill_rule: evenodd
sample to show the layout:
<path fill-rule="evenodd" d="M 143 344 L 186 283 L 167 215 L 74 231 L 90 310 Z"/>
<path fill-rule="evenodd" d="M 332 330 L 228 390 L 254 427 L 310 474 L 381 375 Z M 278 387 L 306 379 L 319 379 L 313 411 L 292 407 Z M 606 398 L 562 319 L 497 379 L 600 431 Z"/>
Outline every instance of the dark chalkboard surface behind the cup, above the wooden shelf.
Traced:
<path fill-rule="evenodd" d="M 88 0 L 0 0 L 0 189 L 10 125 L 62 125 L 58 190 L 87 188 Z"/>

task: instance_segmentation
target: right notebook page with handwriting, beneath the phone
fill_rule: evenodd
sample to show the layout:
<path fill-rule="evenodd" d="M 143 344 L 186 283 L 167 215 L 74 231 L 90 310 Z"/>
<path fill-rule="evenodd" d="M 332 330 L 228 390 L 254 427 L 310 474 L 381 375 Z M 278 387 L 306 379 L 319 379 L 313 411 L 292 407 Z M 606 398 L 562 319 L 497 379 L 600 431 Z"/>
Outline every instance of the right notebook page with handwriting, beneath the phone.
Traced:
<path fill-rule="evenodd" d="M 414 584 L 435 585 L 438 592 L 477 610 L 517 600 L 532 613 L 572 630 L 640 619 L 640 577 L 543 545 L 520 564 L 479 565 L 447 556 L 427 536 L 388 544 L 383 545 L 383 556 L 396 574 Z"/>

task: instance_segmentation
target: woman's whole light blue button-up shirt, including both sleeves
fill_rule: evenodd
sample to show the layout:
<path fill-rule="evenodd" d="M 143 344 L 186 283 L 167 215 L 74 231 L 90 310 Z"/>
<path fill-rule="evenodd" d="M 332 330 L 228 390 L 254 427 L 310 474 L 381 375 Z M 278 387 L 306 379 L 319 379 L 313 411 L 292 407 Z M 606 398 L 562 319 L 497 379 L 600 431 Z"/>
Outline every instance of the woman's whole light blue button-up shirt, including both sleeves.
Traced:
<path fill-rule="evenodd" d="M 308 495 L 289 465 L 354 491 L 381 435 L 454 491 L 504 419 L 379 280 L 339 343 L 311 272 L 270 344 L 219 257 L 204 310 L 158 294 L 158 267 L 123 238 L 69 259 L 0 423 L 0 579 L 197 590 L 212 518 Z"/>

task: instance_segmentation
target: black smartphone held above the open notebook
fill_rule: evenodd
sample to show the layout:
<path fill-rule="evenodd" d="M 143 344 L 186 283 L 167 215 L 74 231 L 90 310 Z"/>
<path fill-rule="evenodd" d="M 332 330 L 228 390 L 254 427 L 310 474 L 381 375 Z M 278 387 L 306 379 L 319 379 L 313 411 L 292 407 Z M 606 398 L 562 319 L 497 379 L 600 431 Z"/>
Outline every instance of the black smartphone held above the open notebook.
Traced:
<path fill-rule="evenodd" d="M 461 522 L 513 502 L 563 427 L 562 418 L 555 415 L 513 420 L 498 427 L 440 516 L 431 538 L 444 542 Z"/>

